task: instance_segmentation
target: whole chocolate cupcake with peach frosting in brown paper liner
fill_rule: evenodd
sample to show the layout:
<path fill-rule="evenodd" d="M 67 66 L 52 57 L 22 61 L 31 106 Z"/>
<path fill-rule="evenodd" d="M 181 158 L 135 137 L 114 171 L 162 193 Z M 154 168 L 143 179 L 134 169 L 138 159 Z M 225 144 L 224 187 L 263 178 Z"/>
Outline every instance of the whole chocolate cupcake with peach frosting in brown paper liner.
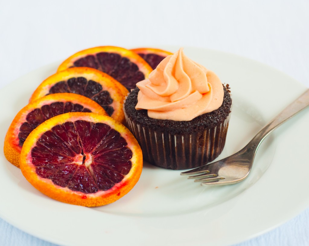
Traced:
<path fill-rule="evenodd" d="M 125 100 L 127 126 L 145 161 L 189 169 L 222 152 L 231 113 L 229 86 L 180 49 L 167 56 Z"/>

